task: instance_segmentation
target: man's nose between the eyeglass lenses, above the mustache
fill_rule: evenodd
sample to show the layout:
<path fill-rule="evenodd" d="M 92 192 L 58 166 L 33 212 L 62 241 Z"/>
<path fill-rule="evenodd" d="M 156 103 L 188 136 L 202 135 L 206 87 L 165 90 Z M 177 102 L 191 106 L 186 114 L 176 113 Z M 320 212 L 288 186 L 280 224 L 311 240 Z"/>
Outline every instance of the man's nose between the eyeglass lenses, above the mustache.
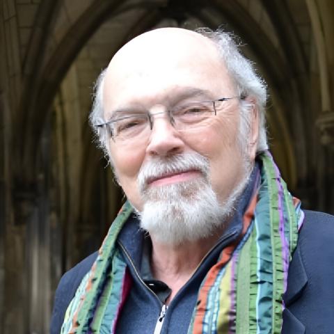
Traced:
<path fill-rule="evenodd" d="M 168 113 L 153 113 L 152 130 L 146 152 L 151 156 L 178 154 L 184 150 L 184 142 L 180 133 L 173 127 Z"/>

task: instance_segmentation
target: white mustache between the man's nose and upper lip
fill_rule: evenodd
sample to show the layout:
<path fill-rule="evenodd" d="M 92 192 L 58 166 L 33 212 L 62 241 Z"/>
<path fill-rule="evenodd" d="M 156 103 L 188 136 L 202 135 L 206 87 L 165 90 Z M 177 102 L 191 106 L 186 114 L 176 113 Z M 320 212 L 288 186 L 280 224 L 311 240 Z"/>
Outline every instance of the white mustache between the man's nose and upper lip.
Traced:
<path fill-rule="evenodd" d="M 141 166 L 138 173 L 138 186 L 143 192 L 154 180 L 193 170 L 199 171 L 209 180 L 209 160 L 196 152 L 155 158 Z"/>

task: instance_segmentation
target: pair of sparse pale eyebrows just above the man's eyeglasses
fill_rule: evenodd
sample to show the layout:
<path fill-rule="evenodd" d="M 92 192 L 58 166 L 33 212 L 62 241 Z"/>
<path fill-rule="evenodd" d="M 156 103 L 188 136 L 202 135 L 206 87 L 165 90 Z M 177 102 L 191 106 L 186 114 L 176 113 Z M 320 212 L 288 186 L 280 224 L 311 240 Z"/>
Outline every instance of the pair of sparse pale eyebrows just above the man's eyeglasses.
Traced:
<path fill-rule="evenodd" d="M 200 97 L 202 96 L 203 98 L 212 98 L 212 93 L 209 90 L 205 89 L 200 89 L 200 88 L 195 88 L 195 87 L 180 87 L 176 86 L 175 88 L 175 93 L 173 93 L 173 96 L 168 98 L 168 104 L 170 106 L 175 106 L 176 104 L 182 102 L 183 100 L 189 99 L 190 97 Z M 177 92 L 179 91 L 179 93 Z M 115 109 L 110 112 L 110 115 L 106 122 L 109 122 L 111 120 L 114 120 L 116 118 L 122 117 L 122 114 L 127 114 L 127 113 L 141 113 L 148 111 L 148 109 L 144 108 L 143 106 L 125 106 L 125 107 L 120 107 L 118 109 Z"/>

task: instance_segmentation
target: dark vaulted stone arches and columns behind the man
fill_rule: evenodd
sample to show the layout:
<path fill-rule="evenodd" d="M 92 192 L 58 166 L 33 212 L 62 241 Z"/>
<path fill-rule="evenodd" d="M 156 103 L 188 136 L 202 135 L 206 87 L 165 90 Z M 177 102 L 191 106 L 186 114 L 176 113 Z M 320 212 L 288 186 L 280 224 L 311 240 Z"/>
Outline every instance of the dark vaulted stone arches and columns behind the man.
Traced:
<path fill-rule="evenodd" d="M 334 1 L 0 2 L 0 333 L 48 333 L 64 271 L 123 195 L 87 117 L 99 72 L 160 26 L 223 26 L 269 86 L 270 146 L 303 207 L 334 213 Z"/>

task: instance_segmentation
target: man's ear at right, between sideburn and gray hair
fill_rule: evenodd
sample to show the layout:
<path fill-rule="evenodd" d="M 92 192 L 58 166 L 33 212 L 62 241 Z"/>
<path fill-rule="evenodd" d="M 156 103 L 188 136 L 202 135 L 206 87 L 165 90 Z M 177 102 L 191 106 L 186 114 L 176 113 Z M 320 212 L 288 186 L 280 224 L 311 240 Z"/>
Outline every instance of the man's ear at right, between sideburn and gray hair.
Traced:
<path fill-rule="evenodd" d="M 248 156 L 252 161 L 255 160 L 257 142 L 259 140 L 260 117 L 254 97 L 246 97 L 246 101 L 251 105 L 249 114 L 249 133 L 248 133 Z"/>

